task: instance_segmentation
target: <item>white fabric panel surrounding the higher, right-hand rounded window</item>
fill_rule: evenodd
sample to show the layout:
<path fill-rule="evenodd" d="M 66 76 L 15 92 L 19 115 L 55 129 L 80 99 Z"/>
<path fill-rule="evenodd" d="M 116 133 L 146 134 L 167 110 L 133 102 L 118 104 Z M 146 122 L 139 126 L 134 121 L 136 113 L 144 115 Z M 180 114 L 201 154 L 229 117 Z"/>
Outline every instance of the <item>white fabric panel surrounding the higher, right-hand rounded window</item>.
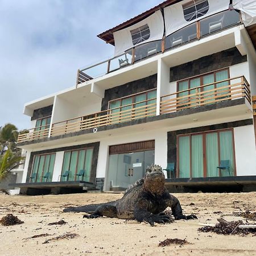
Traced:
<path fill-rule="evenodd" d="M 253 0 L 250 1 L 253 2 Z M 166 36 L 197 20 L 228 9 L 229 0 L 187 0 L 167 6 L 164 8 Z"/>

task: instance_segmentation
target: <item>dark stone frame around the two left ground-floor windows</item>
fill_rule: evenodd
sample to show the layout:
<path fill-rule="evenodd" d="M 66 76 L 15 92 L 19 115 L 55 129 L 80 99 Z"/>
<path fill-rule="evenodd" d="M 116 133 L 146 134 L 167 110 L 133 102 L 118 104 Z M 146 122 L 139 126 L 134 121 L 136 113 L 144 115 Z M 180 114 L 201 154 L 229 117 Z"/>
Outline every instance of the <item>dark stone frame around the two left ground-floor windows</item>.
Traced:
<path fill-rule="evenodd" d="M 55 153 L 55 152 L 59 152 L 59 151 L 67 151 L 67 150 L 78 150 L 80 148 L 89 148 L 89 147 L 93 147 L 92 170 L 90 172 L 89 182 L 96 183 L 98 148 L 100 147 L 100 142 L 81 144 L 81 145 L 69 146 L 69 147 L 59 147 L 59 148 L 53 148 L 51 150 L 42 150 L 42 151 L 31 152 L 30 162 L 28 163 L 27 182 L 29 181 L 28 177 L 30 177 L 31 173 L 32 173 L 32 164 L 33 164 L 35 155 L 51 154 L 51 153 Z"/>

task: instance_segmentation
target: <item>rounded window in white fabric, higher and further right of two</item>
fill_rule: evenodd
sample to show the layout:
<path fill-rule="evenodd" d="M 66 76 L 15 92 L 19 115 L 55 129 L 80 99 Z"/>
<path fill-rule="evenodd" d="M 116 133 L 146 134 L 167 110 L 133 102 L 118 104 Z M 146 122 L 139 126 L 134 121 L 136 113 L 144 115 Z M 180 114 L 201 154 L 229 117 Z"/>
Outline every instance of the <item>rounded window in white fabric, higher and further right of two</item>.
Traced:
<path fill-rule="evenodd" d="M 182 5 L 185 20 L 190 22 L 205 14 L 209 10 L 208 0 L 193 0 Z"/>

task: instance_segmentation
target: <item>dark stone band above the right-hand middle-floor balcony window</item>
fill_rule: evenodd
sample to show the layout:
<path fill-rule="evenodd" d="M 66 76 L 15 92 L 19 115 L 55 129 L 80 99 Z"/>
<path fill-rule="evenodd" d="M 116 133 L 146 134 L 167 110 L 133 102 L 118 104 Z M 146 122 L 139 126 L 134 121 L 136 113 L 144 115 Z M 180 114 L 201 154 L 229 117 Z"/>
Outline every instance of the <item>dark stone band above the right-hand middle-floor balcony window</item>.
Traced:
<path fill-rule="evenodd" d="M 187 79 L 247 61 L 236 47 L 170 68 L 170 82 Z"/>

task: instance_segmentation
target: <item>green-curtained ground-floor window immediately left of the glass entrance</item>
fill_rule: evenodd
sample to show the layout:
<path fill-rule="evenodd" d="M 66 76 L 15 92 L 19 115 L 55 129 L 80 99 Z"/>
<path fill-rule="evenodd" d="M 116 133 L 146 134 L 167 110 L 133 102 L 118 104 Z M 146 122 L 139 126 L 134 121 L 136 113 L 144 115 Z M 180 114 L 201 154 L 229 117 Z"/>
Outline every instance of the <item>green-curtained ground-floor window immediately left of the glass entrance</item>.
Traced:
<path fill-rule="evenodd" d="M 69 171 L 68 180 L 76 180 L 76 174 L 79 174 L 80 170 L 84 170 L 85 172 L 82 180 L 90 181 L 90 172 L 92 170 L 92 157 L 93 148 L 65 151 L 62 174 L 64 174 L 65 171 Z"/>

